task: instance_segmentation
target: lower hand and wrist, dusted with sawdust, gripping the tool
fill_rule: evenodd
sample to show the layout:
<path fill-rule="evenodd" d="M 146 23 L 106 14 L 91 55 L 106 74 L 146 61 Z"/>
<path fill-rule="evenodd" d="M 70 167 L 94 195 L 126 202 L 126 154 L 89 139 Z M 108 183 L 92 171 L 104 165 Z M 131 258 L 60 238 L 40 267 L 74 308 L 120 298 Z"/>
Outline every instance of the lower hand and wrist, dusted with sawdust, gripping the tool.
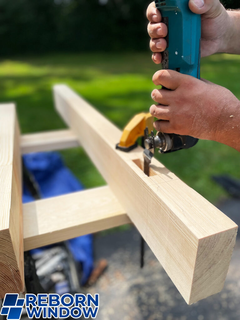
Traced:
<path fill-rule="evenodd" d="M 156 85 L 150 113 L 157 131 L 216 140 L 240 151 L 240 101 L 228 89 L 173 70 L 153 76 Z"/>

